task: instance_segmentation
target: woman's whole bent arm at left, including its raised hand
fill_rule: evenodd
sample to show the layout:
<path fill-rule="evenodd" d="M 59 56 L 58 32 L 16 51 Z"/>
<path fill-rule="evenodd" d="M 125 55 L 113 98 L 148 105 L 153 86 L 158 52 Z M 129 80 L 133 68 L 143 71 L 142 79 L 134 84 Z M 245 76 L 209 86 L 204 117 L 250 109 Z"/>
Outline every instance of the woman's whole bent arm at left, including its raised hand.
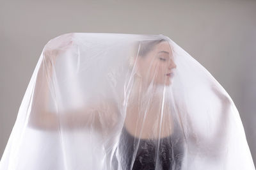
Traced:
<path fill-rule="evenodd" d="M 72 44 L 72 35 L 65 35 L 60 40 L 51 40 L 45 45 L 44 58 L 38 70 L 35 89 L 29 115 L 29 126 L 43 130 L 58 128 L 93 127 L 106 130 L 115 124 L 118 109 L 114 102 L 105 100 L 92 105 L 85 105 L 72 111 L 50 111 L 49 99 L 52 89 L 52 73 L 57 56 Z"/>

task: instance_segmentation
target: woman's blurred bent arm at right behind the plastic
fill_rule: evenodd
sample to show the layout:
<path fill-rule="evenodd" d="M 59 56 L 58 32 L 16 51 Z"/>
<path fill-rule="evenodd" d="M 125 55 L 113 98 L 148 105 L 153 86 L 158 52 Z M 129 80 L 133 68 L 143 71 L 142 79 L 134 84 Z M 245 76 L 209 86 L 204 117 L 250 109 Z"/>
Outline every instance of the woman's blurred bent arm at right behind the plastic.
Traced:
<path fill-rule="evenodd" d="M 184 132 L 185 140 L 188 143 L 196 145 L 196 148 L 200 148 L 204 151 L 218 151 L 218 148 L 221 148 L 221 144 L 223 140 L 225 140 L 225 135 L 228 130 L 228 116 L 230 116 L 230 106 L 232 102 L 230 98 L 228 98 L 223 92 L 220 91 L 216 85 L 212 85 L 211 87 L 214 94 L 220 99 L 221 107 L 220 107 L 220 117 L 216 121 L 214 127 L 213 134 L 200 134 L 198 130 L 195 129 L 195 125 L 191 120 L 189 114 L 182 114 L 182 112 L 188 112 L 186 106 L 178 107 L 179 111 L 179 120 L 181 128 Z M 212 150 L 211 150 L 212 149 Z M 214 154 L 214 153 L 212 153 Z"/>

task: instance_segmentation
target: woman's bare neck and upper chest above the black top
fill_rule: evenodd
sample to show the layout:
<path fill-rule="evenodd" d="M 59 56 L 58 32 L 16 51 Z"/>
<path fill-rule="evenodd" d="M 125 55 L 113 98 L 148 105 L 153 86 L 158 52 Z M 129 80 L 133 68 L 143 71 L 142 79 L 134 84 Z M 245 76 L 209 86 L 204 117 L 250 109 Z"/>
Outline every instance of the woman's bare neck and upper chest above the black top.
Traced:
<path fill-rule="evenodd" d="M 170 109 L 168 105 L 162 105 L 163 98 L 164 93 L 160 89 L 146 88 L 138 82 L 132 85 L 125 118 L 125 126 L 132 134 L 142 129 L 145 134 L 148 132 L 157 134 L 160 132 L 159 128 L 164 125 L 170 126 Z M 163 134 L 169 134 L 169 132 L 163 132 Z"/>

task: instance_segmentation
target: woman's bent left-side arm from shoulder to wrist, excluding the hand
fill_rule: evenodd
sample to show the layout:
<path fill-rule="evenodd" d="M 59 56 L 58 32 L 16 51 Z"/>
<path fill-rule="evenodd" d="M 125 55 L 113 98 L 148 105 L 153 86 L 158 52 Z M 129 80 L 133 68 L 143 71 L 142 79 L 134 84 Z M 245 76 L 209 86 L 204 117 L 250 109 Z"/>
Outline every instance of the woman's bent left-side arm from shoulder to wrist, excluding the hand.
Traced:
<path fill-rule="evenodd" d="M 29 126 L 44 130 L 58 130 L 60 126 L 70 129 L 93 127 L 97 130 L 108 130 L 108 128 L 115 125 L 118 109 L 111 100 L 102 100 L 95 104 L 84 105 L 83 108 L 72 111 L 49 111 L 51 75 L 52 68 L 47 68 L 46 71 L 43 62 L 36 78 Z"/>

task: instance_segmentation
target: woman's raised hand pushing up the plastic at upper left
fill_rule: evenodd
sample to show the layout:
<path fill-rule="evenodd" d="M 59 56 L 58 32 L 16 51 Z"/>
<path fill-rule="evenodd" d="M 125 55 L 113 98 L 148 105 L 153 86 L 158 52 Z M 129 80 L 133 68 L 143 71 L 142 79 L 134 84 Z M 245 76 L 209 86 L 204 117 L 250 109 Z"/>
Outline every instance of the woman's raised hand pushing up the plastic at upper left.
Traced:
<path fill-rule="evenodd" d="M 44 47 L 44 61 L 48 66 L 53 66 L 56 63 L 56 58 L 70 48 L 73 44 L 72 38 L 74 33 L 68 33 L 58 36 L 50 40 Z"/>

